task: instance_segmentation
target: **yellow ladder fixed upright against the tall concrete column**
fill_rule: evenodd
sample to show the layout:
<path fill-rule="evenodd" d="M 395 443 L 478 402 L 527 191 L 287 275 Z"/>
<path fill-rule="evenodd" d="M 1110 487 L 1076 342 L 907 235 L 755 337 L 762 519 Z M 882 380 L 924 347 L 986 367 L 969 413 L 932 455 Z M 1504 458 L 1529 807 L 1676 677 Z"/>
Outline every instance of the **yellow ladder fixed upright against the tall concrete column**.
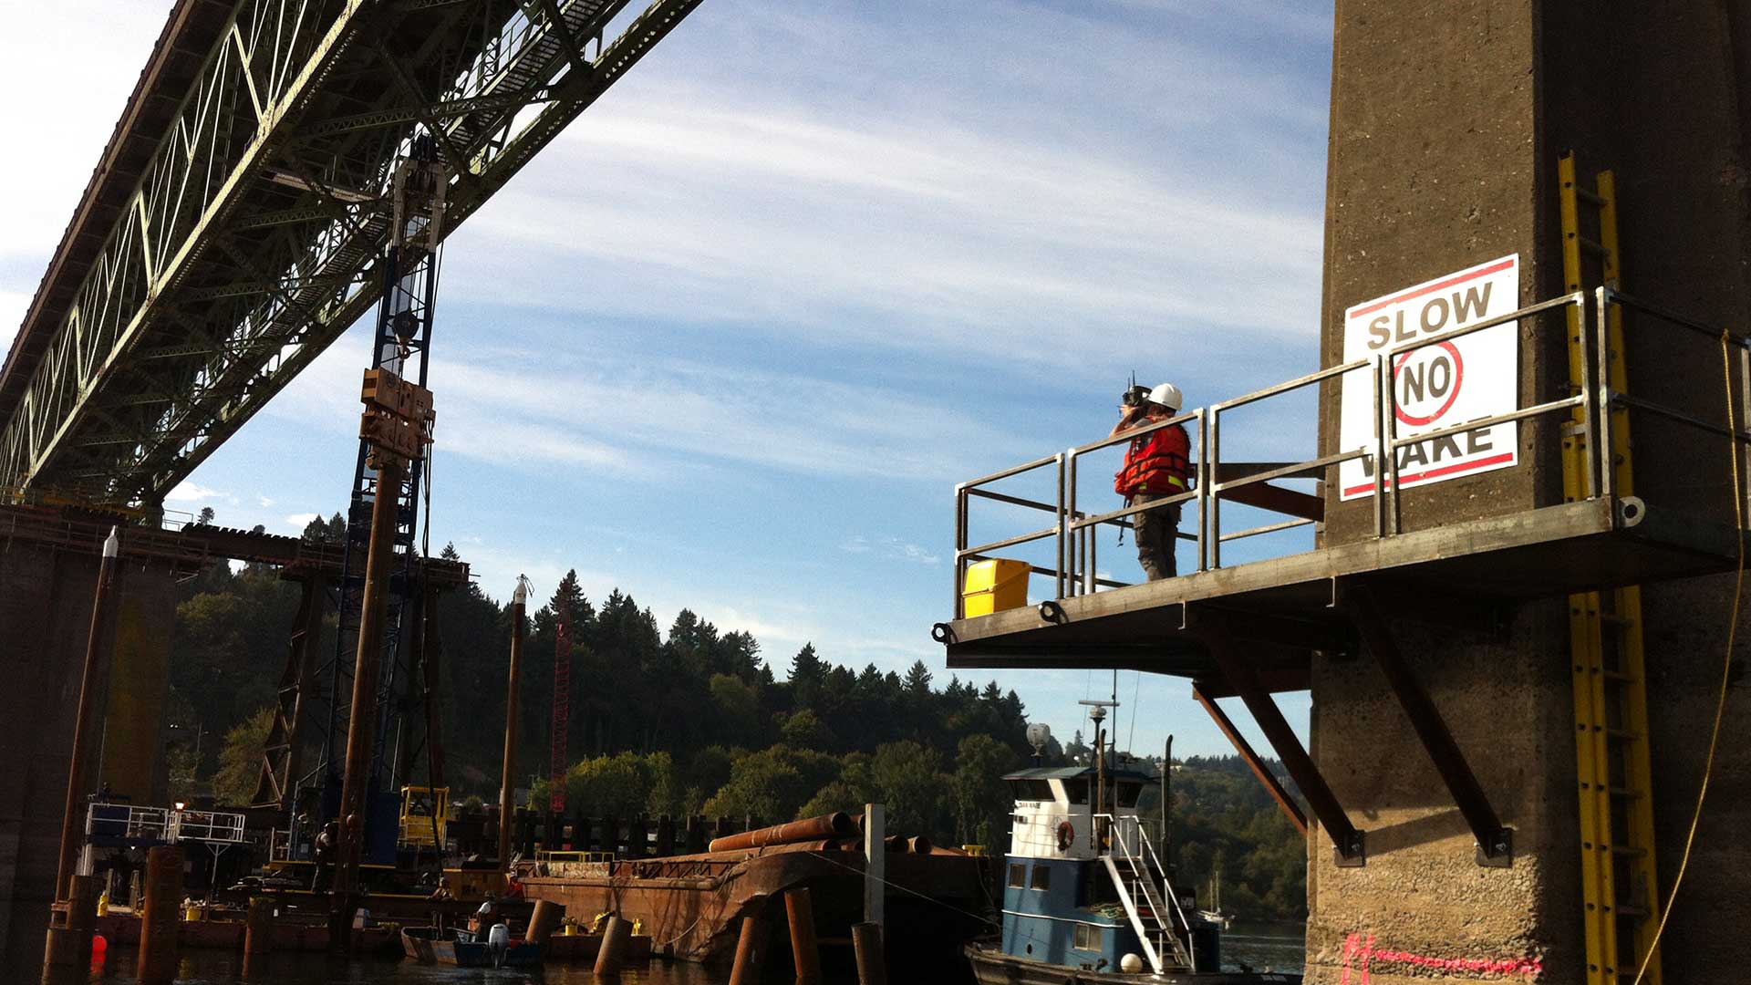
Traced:
<path fill-rule="evenodd" d="M 1569 291 L 1620 286 L 1616 182 L 1599 172 L 1593 188 L 1576 177 L 1574 152 L 1557 163 L 1562 193 L 1562 270 Z M 1588 219 L 1583 223 L 1583 216 Z M 1623 393 L 1623 312 L 1607 321 L 1607 380 Z M 1569 308 L 1569 380 L 1579 387 L 1588 359 L 1586 324 Z M 1562 487 L 1569 501 L 1590 496 L 1583 408 L 1564 436 Z M 1614 492 L 1634 494 L 1628 412 L 1611 419 Z M 1616 985 L 1641 967 L 1660 918 L 1653 859 L 1653 785 L 1648 762 L 1648 691 L 1642 654 L 1641 587 L 1569 596 L 1569 650 L 1574 670 L 1574 754 L 1581 796 L 1581 894 L 1588 985 Z M 1660 960 L 1644 981 L 1660 985 Z"/>

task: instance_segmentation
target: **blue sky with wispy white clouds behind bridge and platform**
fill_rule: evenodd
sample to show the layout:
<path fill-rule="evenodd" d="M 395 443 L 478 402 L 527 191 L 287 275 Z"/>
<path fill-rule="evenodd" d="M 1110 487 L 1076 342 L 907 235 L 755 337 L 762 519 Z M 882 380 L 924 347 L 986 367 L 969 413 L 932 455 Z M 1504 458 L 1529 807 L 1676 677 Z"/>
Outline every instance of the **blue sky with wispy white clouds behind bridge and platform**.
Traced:
<path fill-rule="evenodd" d="M 0 103 L 37 135 L 0 158 L 35 189 L 0 231 L 0 344 L 168 5 L 7 7 L 0 91 L 67 96 Z M 958 480 L 1105 435 L 1133 370 L 1196 405 L 1315 368 L 1329 70 L 1329 4 L 706 0 L 450 238 L 434 543 L 497 598 L 576 568 L 664 626 L 692 606 L 779 677 L 814 641 L 946 680 Z M 166 507 L 282 533 L 340 508 L 366 333 Z M 1310 457 L 1310 410 L 1224 452 Z M 974 536 L 1035 526 L 981 512 Z M 1138 577 L 1110 536 L 1101 568 Z M 1063 736 L 1108 687 L 995 677 Z M 1142 678 L 1140 752 L 1227 750 L 1187 694 Z"/>

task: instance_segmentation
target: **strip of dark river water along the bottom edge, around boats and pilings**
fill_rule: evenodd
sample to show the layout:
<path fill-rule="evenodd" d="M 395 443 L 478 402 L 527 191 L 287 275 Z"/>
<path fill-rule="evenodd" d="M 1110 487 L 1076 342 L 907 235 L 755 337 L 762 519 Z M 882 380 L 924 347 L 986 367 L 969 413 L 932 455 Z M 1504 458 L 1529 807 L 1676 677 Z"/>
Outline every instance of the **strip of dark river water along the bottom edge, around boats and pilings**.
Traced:
<path fill-rule="evenodd" d="M 1292 924 L 1234 924 L 1222 936 L 1224 964 L 1241 962 L 1255 971 L 1301 971 L 1303 932 Z M 770 971 L 770 969 L 769 969 Z M 620 981 L 632 985 L 723 985 L 728 971 L 707 973 L 697 964 L 653 960 L 648 967 L 622 974 Z M 788 976 L 770 974 L 770 981 Z M 490 971 L 478 967 L 445 967 L 410 960 L 331 960 L 324 955 L 268 955 L 268 960 L 243 978 L 240 955 L 221 952 L 191 952 L 179 973 L 179 985 L 597 985 L 587 964 L 550 966 L 538 971 Z M 849 985 L 851 978 L 833 978 L 832 985 Z M 944 969 L 944 985 L 970 981 L 965 969 Z M 70 973 L 44 980 L 44 985 L 133 985 L 133 953 L 117 953 L 102 973 Z M 902 985 L 902 983 L 895 983 Z"/>

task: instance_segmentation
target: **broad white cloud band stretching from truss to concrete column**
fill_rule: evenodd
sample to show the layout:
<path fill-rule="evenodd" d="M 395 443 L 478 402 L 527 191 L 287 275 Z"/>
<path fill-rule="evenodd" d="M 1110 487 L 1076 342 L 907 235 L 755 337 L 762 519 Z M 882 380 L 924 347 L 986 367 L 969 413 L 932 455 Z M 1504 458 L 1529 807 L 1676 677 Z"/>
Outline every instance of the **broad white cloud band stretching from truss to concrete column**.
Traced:
<path fill-rule="evenodd" d="M 1161 345 L 1208 326 L 1301 331 L 1299 286 L 1319 265 L 1317 214 L 949 124 L 851 128 L 825 107 L 678 93 L 550 154 L 469 231 L 541 259 L 459 266 L 462 291 L 623 315 L 679 307 L 963 356 L 1002 330 L 1016 358 L 1051 359 L 1094 326 Z M 580 172 L 616 175 L 613 195 Z M 539 287 L 560 268 L 581 289 Z M 669 289 L 609 289 L 629 279 Z"/>

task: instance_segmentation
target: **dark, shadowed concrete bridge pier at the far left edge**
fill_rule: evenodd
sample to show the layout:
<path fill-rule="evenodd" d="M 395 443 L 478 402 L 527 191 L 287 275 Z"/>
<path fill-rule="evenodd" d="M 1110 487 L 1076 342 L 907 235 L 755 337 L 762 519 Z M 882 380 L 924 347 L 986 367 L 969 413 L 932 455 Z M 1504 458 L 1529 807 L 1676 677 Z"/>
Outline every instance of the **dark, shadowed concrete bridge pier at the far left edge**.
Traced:
<path fill-rule="evenodd" d="M 91 790 L 165 803 L 163 705 L 170 689 L 175 568 L 128 557 L 103 629 Z M 0 969 L 42 960 L 54 897 L 67 764 L 102 543 L 0 536 Z"/>

